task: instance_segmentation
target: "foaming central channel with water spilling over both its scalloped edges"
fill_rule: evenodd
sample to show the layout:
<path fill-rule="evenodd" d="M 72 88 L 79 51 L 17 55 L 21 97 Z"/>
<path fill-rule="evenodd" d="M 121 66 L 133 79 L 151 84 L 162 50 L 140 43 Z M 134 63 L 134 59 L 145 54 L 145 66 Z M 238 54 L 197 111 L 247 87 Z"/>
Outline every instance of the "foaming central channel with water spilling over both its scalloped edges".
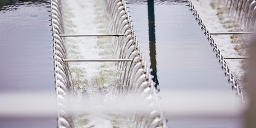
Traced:
<path fill-rule="evenodd" d="M 59 126 L 166 127 L 157 104 L 157 90 L 141 54 L 125 2 L 84 3 L 64 1 L 61 4 L 60 0 L 52 0 L 51 4 Z M 125 36 L 60 38 L 60 34 L 86 34 L 88 30 L 89 33 L 125 33 Z M 131 58 L 133 62 L 67 63 L 62 60 L 96 57 Z M 68 106 L 70 103 L 72 111 Z M 127 103 L 130 105 L 128 110 L 123 106 Z M 109 104 L 115 104 L 110 108 L 117 107 L 118 110 L 119 107 L 120 111 L 105 109 Z M 138 109 L 139 104 L 144 105 L 143 111 Z"/>

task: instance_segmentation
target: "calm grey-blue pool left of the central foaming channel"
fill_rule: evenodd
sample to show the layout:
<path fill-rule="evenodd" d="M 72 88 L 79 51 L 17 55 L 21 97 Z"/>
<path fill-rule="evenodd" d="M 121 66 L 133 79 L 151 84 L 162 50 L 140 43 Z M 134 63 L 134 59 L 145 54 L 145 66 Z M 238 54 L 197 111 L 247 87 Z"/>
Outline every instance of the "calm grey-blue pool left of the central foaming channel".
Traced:
<path fill-rule="evenodd" d="M 44 92 L 56 98 L 50 6 L 49 0 L 0 0 L 0 94 Z M 33 108 L 33 103 L 28 106 Z M 0 127 L 57 127 L 56 119 L 57 114 L 44 118 L 1 116 Z"/>

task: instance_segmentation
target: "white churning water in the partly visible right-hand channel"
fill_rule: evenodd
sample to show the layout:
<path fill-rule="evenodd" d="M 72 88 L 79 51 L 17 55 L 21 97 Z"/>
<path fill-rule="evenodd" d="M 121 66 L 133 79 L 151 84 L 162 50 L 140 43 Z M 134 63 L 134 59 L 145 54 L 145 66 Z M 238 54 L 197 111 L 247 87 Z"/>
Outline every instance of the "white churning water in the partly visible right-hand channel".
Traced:
<path fill-rule="evenodd" d="M 253 16 L 255 15 L 255 1 L 212 1 L 211 5 L 213 9 L 217 10 L 220 22 L 228 31 L 255 31 L 255 18 Z M 218 37 L 222 38 L 223 36 Z M 229 37 L 232 39 L 229 41 L 229 46 L 235 45 L 234 50 L 239 56 L 249 55 L 247 53 L 248 44 L 250 39 L 254 37 L 253 34 L 231 35 Z M 242 85 L 244 93 L 247 93 L 247 60 L 229 60 L 228 65 L 234 65 L 231 70 L 234 71 L 237 81 Z"/>

